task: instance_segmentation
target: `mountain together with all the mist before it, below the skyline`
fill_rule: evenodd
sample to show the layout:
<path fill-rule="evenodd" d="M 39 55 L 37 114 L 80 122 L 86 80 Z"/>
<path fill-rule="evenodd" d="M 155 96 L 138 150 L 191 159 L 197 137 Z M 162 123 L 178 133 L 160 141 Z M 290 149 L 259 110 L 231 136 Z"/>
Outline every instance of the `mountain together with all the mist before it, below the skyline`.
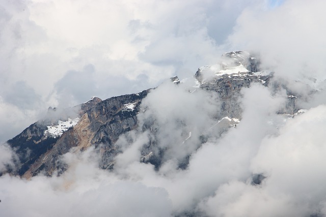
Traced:
<path fill-rule="evenodd" d="M 307 107 L 323 91 L 304 79 L 297 91 L 246 51 L 222 56 L 137 94 L 49 108 L 1 146 L 1 213 L 323 216 L 326 110 Z"/>

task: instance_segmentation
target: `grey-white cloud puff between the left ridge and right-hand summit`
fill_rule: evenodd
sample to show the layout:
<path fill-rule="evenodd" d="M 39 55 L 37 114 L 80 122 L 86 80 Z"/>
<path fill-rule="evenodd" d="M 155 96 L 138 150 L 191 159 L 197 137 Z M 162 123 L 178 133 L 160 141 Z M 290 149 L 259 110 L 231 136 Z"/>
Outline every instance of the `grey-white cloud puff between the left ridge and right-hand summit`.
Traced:
<path fill-rule="evenodd" d="M 170 80 L 151 90 L 142 106 L 146 112 L 139 114 L 140 130 L 153 123 L 148 131 L 155 137 L 156 148 L 167 149 L 164 161 L 182 160 L 196 150 L 199 136 L 214 125 L 220 109 L 215 92 L 199 88 L 190 92 L 186 84 Z"/>

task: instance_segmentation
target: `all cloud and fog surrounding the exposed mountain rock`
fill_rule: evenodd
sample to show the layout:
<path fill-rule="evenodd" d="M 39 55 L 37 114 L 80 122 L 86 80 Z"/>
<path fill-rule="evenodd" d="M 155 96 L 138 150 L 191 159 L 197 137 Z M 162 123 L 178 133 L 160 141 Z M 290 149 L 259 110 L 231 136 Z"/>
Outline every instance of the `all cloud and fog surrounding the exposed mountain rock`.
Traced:
<path fill-rule="evenodd" d="M 12 42 L 0 51 L 2 138 L 36 120 L 42 113 L 36 107 L 160 85 L 142 102 L 139 128 L 120 136 L 123 152 L 113 170 L 99 169 L 98 152 L 89 148 L 64 154 L 69 169 L 59 177 L 3 175 L 0 216 L 326 215 L 323 1 L 4 4 L 0 39 Z M 224 22 L 222 15 L 230 18 Z M 84 24 L 71 28 L 77 21 Z M 213 92 L 191 79 L 179 85 L 163 79 L 191 77 L 216 64 L 225 49 L 259 55 L 262 69 L 274 71 L 307 111 L 279 114 L 286 90 L 252 84 L 241 89 L 240 123 L 221 135 Z M 38 85 L 45 77 L 52 79 Z M 153 127 L 143 129 L 148 122 Z M 207 142 L 201 144 L 201 135 Z M 158 169 L 140 161 L 154 137 L 154 151 L 166 150 Z M 16 159 L 8 145 L 0 146 L 0 172 L 15 169 Z"/>

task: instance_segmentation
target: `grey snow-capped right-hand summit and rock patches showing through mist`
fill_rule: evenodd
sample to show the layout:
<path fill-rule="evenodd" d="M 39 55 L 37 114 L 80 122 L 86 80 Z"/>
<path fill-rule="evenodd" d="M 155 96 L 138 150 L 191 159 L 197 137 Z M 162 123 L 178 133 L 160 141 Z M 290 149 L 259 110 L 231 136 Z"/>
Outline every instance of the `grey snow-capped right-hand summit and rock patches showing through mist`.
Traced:
<path fill-rule="evenodd" d="M 213 91 L 218 94 L 218 100 L 221 102 L 221 108 L 216 113 L 216 125 L 213 126 L 215 135 L 222 135 L 231 127 L 236 127 L 241 119 L 242 108 L 239 99 L 241 98 L 241 89 L 248 88 L 252 83 L 258 83 L 268 86 L 273 78 L 274 73 L 257 72 L 259 69 L 259 61 L 255 57 L 246 52 L 230 52 L 224 54 L 224 58 L 229 58 L 227 64 L 223 66 L 206 66 L 200 68 L 195 78 L 200 83 L 199 88 L 206 91 Z M 231 60 L 230 60 L 231 58 Z M 244 66 L 246 68 L 244 68 Z M 204 73 L 210 74 L 207 77 Z M 277 81 L 273 82 L 275 85 Z M 273 87 L 271 87 L 273 88 Z M 290 92 L 288 91 L 289 95 Z M 281 114 L 293 115 L 297 112 L 296 97 L 289 95 L 286 106 L 280 110 Z M 151 139 L 149 144 L 143 146 L 141 162 L 150 163 L 158 169 L 165 158 L 166 150 L 157 148 L 159 139 L 156 138 L 155 121 L 149 121 L 143 126 L 143 131 L 151 131 Z M 209 136 L 204 132 L 200 136 L 199 143 L 205 143 Z M 200 144 L 198 145 L 200 147 Z M 180 169 L 187 167 L 189 156 L 179 160 Z"/>

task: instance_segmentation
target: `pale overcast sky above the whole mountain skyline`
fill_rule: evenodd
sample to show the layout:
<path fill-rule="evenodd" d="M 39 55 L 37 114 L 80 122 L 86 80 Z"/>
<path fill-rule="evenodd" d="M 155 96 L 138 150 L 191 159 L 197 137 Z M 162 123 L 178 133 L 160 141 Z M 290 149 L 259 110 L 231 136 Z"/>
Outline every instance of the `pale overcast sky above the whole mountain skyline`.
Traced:
<path fill-rule="evenodd" d="M 320 72 L 323 6 L 320 0 L 1 0 L 0 141 L 49 106 L 190 77 L 231 50 L 259 53 L 266 67 L 287 77 L 309 67 Z"/>

